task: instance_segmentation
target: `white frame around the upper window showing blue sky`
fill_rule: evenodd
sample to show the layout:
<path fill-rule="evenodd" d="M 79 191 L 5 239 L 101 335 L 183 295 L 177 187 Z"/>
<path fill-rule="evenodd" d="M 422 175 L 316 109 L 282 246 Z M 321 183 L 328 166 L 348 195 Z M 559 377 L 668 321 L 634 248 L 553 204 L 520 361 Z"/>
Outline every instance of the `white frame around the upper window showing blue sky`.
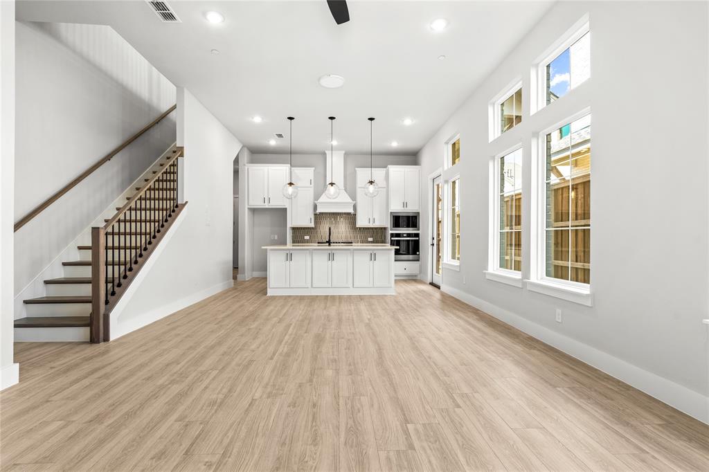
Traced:
<path fill-rule="evenodd" d="M 542 55 L 540 55 L 539 58 L 537 58 L 537 60 L 534 61 L 530 81 L 530 115 L 534 115 L 538 111 L 542 110 L 542 108 L 546 108 L 548 105 L 551 105 L 551 103 L 547 104 L 547 65 L 566 49 L 571 47 L 571 45 L 574 45 L 576 41 L 583 38 L 586 33 L 591 33 L 591 23 L 588 20 L 588 13 L 581 17 L 579 21 L 576 21 L 574 26 L 571 26 L 571 28 L 566 30 L 566 33 L 564 33 L 561 38 L 554 42 L 552 46 L 550 46 Z M 593 70 L 591 70 L 591 74 L 593 74 Z M 581 82 L 581 84 L 585 84 L 590 79 L 591 76 L 589 76 L 586 81 Z M 576 89 L 576 87 L 574 87 L 574 89 Z M 566 93 L 566 95 L 571 94 L 574 89 L 569 89 L 569 92 Z M 559 99 L 562 98 L 563 96 L 559 97 Z M 559 99 L 555 101 L 559 101 Z"/>

